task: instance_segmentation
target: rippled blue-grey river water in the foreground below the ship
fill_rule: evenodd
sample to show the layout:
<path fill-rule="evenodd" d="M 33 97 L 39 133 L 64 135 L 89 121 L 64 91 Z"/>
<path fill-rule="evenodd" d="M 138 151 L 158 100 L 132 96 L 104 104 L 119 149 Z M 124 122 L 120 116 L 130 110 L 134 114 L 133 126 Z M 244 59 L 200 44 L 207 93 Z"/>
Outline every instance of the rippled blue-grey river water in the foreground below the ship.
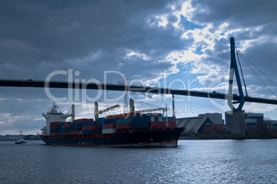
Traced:
<path fill-rule="evenodd" d="M 276 139 L 147 148 L 0 141 L 0 183 L 277 183 L 276 153 Z"/>

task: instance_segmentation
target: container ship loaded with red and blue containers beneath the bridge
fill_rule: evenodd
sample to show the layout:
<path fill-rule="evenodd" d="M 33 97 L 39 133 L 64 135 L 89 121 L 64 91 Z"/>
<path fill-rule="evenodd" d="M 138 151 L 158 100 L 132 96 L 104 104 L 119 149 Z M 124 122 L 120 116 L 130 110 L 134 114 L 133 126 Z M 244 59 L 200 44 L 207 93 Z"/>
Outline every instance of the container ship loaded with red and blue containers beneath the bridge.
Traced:
<path fill-rule="evenodd" d="M 58 112 L 57 105 L 42 115 L 46 119 L 40 135 L 41 140 L 50 145 L 88 145 L 88 146 L 163 146 L 176 147 L 185 127 L 176 127 L 174 116 L 147 113 L 154 110 L 134 111 L 134 101 L 130 99 L 130 112 L 99 118 L 99 114 L 119 108 L 114 105 L 105 110 L 98 110 L 94 104 L 95 119 L 74 120 L 74 104 L 72 114 Z M 71 116 L 72 121 L 65 119 Z"/>

